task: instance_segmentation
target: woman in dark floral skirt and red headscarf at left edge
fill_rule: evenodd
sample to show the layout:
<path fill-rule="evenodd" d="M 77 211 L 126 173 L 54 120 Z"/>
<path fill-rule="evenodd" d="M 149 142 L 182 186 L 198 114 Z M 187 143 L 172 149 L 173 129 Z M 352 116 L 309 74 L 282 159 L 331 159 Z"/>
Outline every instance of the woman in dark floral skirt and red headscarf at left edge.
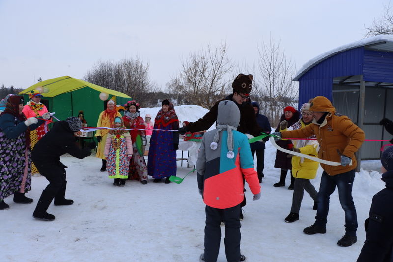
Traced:
<path fill-rule="evenodd" d="M 26 119 L 23 97 L 8 95 L 5 110 L 0 115 L 0 210 L 9 209 L 4 198 L 14 194 L 14 202 L 30 204 L 25 193 L 31 190 L 30 130 L 38 128 L 43 120 Z M 49 119 L 49 113 L 42 115 Z"/>

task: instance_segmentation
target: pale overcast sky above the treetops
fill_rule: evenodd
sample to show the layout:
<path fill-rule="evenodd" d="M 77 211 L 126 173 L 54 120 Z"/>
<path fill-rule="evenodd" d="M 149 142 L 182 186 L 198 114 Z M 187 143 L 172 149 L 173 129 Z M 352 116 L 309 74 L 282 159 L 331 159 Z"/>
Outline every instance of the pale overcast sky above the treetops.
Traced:
<path fill-rule="evenodd" d="M 139 56 L 165 84 L 181 58 L 226 42 L 251 66 L 271 36 L 299 69 L 318 54 L 360 40 L 389 0 L 0 0 L 0 85 L 28 88 L 99 60 Z M 240 72 L 239 72 L 240 73 Z M 249 72 L 242 72 L 248 74 Z M 254 78 L 258 78 L 255 74 Z"/>

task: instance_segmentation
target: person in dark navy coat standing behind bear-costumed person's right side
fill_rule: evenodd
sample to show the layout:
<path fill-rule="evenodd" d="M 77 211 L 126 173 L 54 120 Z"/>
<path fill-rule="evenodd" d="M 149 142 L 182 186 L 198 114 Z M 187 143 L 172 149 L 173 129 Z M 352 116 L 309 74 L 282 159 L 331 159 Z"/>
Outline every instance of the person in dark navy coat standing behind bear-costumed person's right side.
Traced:
<path fill-rule="evenodd" d="M 266 133 L 270 133 L 271 127 L 269 123 L 269 119 L 262 114 L 259 114 L 259 104 L 258 102 L 251 103 L 255 110 L 256 122 L 258 125 L 265 130 Z M 263 168 L 265 167 L 265 142 L 269 138 L 263 139 L 264 141 L 257 141 L 250 144 L 251 154 L 254 158 L 254 153 L 256 152 L 256 171 L 258 173 L 259 183 L 262 183 Z"/>

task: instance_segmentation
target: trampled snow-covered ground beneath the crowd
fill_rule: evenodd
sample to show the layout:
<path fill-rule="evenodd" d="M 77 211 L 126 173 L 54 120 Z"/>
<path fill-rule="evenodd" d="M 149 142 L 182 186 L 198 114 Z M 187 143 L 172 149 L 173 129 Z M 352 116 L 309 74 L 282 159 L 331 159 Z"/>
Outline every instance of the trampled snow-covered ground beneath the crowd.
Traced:
<path fill-rule="evenodd" d="M 184 109 L 184 110 L 183 110 Z M 202 108 L 203 109 L 203 108 Z M 152 113 L 155 109 L 146 109 Z M 196 120 L 207 110 L 196 106 L 176 107 L 180 120 Z M 143 109 L 141 110 L 143 111 Z M 155 112 L 157 112 L 155 110 Z M 183 111 L 183 112 L 181 112 Z M 155 117 L 155 113 L 152 114 Z M 371 142 L 365 142 L 371 143 Z M 178 151 L 178 155 L 180 155 Z M 265 151 L 265 178 L 262 197 L 252 201 L 248 187 L 248 203 L 243 208 L 242 254 L 249 262 L 352 262 L 356 261 L 365 241 L 363 223 L 372 196 L 384 188 L 380 180 L 380 162 L 363 161 L 356 174 L 353 196 L 358 213 L 358 242 L 339 247 L 344 235 L 344 211 L 337 190 L 331 197 L 327 233 L 306 235 L 303 228 L 314 222 L 316 211 L 305 193 L 300 219 L 285 223 L 292 192 L 275 188 L 280 171 L 273 167 L 276 151 L 268 143 Z M 146 157 L 147 159 L 147 157 Z M 44 177 L 33 177 L 32 191 L 27 196 L 33 204 L 16 204 L 12 196 L 5 199 L 9 210 L 0 210 L 1 262 L 193 262 L 203 253 L 204 207 L 197 190 L 197 175 L 191 173 L 181 184 L 148 184 L 127 181 L 125 187 L 114 187 L 106 172 L 100 172 L 101 160 L 90 156 L 79 160 L 61 157 L 67 168 L 66 197 L 71 206 L 51 206 L 52 222 L 32 218 L 36 202 L 48 184 Z M 184 177 L 192 168 L 178 162 L 177 175 Z M 312 180 L 319 188 L 322 169 Z M 224 227 L 222 227 L 224 237 Z M 219 262 L 225 262 L 222 241 Z"/>

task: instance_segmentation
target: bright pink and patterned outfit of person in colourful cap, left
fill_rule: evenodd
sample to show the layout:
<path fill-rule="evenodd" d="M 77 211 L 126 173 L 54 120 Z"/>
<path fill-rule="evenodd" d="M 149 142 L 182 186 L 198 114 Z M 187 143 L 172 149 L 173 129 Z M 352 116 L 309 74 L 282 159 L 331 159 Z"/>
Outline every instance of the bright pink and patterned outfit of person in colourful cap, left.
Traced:
<path fill-rule="evenodd" d="M 48 109 L 41 102 L 36 103 L 36 102 L 30 100 L 23 107 L 22 112 L 26 116 L 26 118 L 40 117 L 43 114 L 45 114 L 46 112 L 48 112 Z M 47 132 L 48 132 L 48 122 L 46 122 L 46 121 L 44 124 L 39 126 L 37 129 L 30 131 L 31 150 L 34 148 L 34 146 L 38 142 L 38 140 L 40 140 Z M 31 173 L 32 174 L 39 174 L 38 169 L 35 167 L 34 163 L 31 163 Z"/>

